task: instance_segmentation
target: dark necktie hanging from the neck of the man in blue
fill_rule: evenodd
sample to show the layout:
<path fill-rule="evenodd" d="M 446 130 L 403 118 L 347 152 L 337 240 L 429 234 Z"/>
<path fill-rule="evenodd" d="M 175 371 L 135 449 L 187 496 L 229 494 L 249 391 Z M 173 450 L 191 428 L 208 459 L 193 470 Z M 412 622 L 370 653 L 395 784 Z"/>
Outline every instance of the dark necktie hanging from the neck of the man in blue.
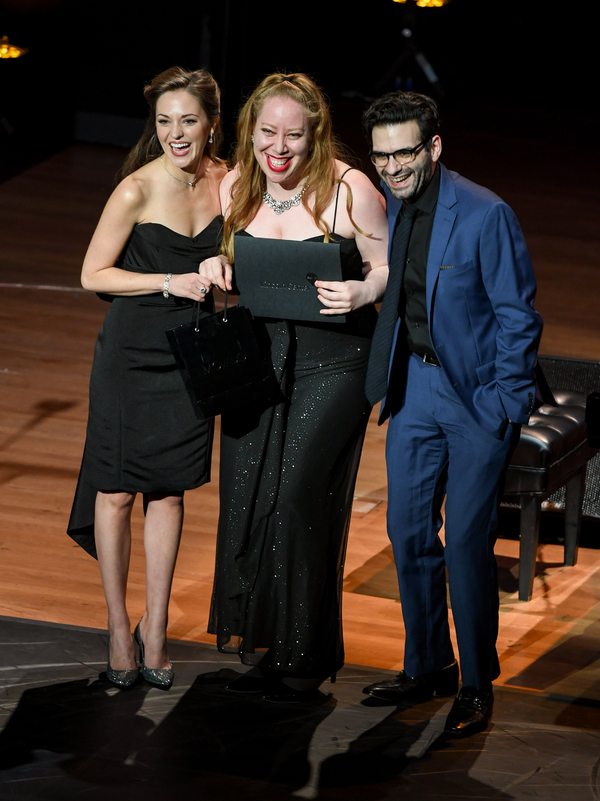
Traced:
<path fill-rule="evenodd" d="M 390 258 L 390 275 L 375 333 L 373 334 L 373 341 L 371 342 L 371 355 L 369 357 L 365 386 L 367 398 L 373 406 L 387 394 L 388 369 L 394 327 L 398 319 L 400 288 L 402 286 L 402 276 L 404 275 L 408 241 L 416 213 L 416 206 L 404 204 L 402 219 L 394 232 Z"/>

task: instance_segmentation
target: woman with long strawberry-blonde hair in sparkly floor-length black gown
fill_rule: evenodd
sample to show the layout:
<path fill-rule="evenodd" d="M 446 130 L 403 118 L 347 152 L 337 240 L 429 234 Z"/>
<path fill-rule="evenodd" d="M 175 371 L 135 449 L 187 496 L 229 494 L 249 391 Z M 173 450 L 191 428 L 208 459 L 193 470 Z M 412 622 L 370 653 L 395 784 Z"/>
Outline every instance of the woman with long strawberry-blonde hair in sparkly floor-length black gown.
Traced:
<path fill-rule="evenodd" d="M 220 190 L 229 262 L 221 256 L 201 268 L 213 283 L 231 286 L 234 237 L 341 248 L 344 280 L 315 284 L 322 323 L 257 320 L 282 402 L 221 420 L 209 631 L 253 666 L 231 691 L 310 700 L 344 661 L 341 582 L 387 222 L 371 182 L 336 158 L 325 101 L 305 75 L 271 75 L 258 86 L 240 113 L 236 161 Z M 327 322 L 338 314 L 344 323 Z"/>

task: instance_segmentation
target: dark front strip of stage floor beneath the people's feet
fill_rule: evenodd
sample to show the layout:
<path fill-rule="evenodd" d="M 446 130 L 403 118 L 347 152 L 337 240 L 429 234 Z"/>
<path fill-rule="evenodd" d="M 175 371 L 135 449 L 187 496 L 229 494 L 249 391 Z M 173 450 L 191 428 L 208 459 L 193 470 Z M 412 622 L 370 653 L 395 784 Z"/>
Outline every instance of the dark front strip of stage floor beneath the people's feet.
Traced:
<path fill-rule="evenodd" d="M 0 798 L 74 801 L 600 797 L 600 704 L 496 690 L 493 725 L 444 737 L 451 699 L 382 706 L 347 665 L 322 704 L 225 690 L 237 660 L 172 641 L 169 692 L 103 672 L 106 635 L 0 618 Z"/>

